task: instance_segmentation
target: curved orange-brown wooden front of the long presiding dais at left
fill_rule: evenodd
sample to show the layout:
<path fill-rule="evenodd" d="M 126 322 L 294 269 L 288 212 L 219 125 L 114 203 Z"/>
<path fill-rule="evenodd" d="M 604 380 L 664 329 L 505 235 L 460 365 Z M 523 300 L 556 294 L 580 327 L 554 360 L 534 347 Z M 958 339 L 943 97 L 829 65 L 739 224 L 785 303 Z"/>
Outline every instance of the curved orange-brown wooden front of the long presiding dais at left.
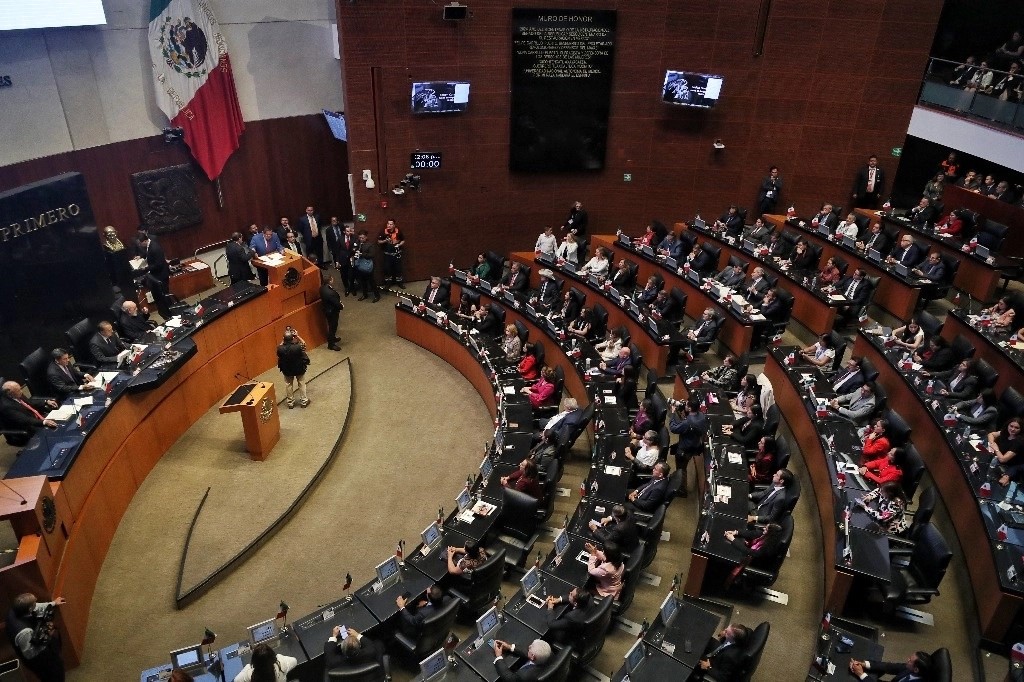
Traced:
<path fill-rule="evenodd" d="M 195 352 L 180 367 L 146 383 L 145 390 L 132 392 L 129 386 L 91 417 L 74 458 L 58 474 L 46 453 L 32 454 L 32 442 L 12 467 L 9 476 L 49 478 L 55 518 L 43 543 L 22 539 L 18 560 L 0 571 L 3 596 L 32 591 L 68 600 L 57 623 L 70 666 L 83 654 L 93 592 L 118 524 L 153 467 L 237 387 L 238 375 L 252 377 L 273 367 L 285 327 L 299 330 L 312 346 L 325 342 L 319 272 L 303 262 L 307 267 L 295 287 L 271 286 L 198 326 L 184 339 Z"/>

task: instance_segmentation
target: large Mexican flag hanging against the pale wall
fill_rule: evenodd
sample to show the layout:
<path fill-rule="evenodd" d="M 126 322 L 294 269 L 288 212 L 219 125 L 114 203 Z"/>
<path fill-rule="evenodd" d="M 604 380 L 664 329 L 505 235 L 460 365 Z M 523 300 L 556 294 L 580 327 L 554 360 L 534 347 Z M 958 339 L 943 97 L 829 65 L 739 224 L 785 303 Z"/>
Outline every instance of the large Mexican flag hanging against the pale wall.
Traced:
<path fill-rule="evenodd" d="M 245 129 L 231 62 L 207 0 L 152 0 L 150 54 L 157 104 L 184 129 L 193 156 L 212 180 L 239 148 Z"/>

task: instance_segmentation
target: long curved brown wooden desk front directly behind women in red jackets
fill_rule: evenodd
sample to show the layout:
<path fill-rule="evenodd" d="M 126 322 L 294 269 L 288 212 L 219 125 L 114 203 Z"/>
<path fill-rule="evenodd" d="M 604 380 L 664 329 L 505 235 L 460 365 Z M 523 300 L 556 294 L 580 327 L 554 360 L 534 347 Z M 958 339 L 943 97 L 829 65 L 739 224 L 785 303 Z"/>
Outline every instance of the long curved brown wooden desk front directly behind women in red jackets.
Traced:
<path fill-rule="evenodd" d="M 995 527 L 988 513 L 990 505 L 981 499 L 977 489 L 979 481 L 968 468 L 971 462 L 965 461 L 963 449 L 955 442 L 954 434 L 958 434 L 959 429 L 943 425 L 941 417 L 933 413 L 922 391 L 915 388 L 915 373 L 903 372 L 893 365 L 886 349 L 863 331 L 857 333 L 853 353 L 868 358 L 878 369 L 878 383 L 886 389 L 889 404 L 898 407 L 900 416 L 911 427 L 911 439 L 946 509 L 950 510 L 950 519 L 967 558 L 982 639 L 1012 644 L 1013 641 L 1008 642 L 1006 638 L 1015 630 L 1012 626 L 1022 612 L 1024 589 L 1016 579 L 1010 580 L 1007 571 L 1013 567 L 1017 574 L 1024 574 L 1024 557 L 1021 556 L 1024 550 L 1012 541 L 995 538 Z M 992 498 L 998 499 L 994 489 Z"/>

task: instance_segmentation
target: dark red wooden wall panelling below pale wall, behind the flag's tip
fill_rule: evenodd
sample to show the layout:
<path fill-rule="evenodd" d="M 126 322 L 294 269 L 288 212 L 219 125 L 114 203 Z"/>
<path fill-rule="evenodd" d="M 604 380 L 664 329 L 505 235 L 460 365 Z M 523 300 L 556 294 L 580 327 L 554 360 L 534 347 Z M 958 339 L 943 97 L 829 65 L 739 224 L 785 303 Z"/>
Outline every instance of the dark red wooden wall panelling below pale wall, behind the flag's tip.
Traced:
<path fill-rule="evenodd" d="M 85 176 L 98 224 L 116 226 L 127 242 L 134 237 L 139 222 L 129 176 L 187 163 L 193 162 L 184 144 L 168 144 L 159 136 L 146 137 L 0 168 L 0 191 L 78 171 Z M 322 216 L 337 215 L 342 220 L 351 217 L 345 143 L 331 136 L 324 117 L 318 115 L 246 122 L 242 145 L 220 177 L 223 208 L 217 206 L 213 183 L 198 166 L 193 169 L 203 222 L 159 238 L 171 258 L 223 241 L 252 221 L 276 223 L 287 215 L 294 224 L 309 203 Z"/>

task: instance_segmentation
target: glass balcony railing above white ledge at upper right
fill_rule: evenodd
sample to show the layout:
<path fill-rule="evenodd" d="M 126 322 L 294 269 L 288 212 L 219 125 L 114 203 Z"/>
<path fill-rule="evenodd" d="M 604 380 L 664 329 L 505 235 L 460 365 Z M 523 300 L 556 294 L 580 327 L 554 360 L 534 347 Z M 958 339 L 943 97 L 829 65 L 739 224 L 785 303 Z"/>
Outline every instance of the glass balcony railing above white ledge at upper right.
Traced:
<path fill-rule="evenodd" d="M 1013 87 L 1008 88 L 1006 98 L 1001 98 L 993 93 L 993 88 L 1010 74 L 991 69 L 989 87 L 975 89 L 969 87 L 969 82 L 977 69 L 977 66 L 959 61 L 930 59 L 918 103 L 950 110 L 965 118 L 982 119 L 1004 128 L 1024 129 L 1024 103 L 1020 101 L 1024 98 L 1021 94 L 1024 74 L 1013 75 Z M 962 77 L 965 70 L 971 71 Z"/>

